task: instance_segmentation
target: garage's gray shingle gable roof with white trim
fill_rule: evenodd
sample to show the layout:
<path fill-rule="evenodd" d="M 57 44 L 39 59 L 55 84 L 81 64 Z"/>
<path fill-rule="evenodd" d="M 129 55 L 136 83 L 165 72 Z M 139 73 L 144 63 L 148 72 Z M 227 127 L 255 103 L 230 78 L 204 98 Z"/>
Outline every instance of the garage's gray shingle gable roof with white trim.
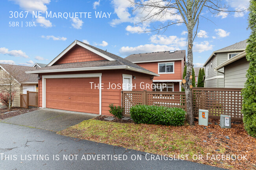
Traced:
<path fill-rule="evenodd" d="M 75 45 L 82 46 L 100 56 L 104 56 L 107 60 L 100 61 L 90 61 L 90 62 L 75 62 L 67 64 L 56 64 L 53 65 L 59 58 L 61 58 L 65 53 L 67 53 Z M 68 49 L 68 50 L 67 50 Z M 61 56 L 61 57 L 60 57 Z M 145 69 L 137 64 L 134 64 L 122 57 L 104 51 L 102 49 L 96 48 L 89 44 L 85 44 L 78 40 L 75 40 L 68 48 L 66 48 L 60 55 L 58 55 L 54 60 L 52 60 L 46 67 L 39 68 L 33 71 L 27 71 L 26 73 L 36 74 L 36 73 L 51 73 L 51 72 L 65 72 L 65 71 L 86 71 L 86 70 L 103 70 L 103 69 L 128 69 L 140 73 L 145 73 L 149 75 L 159 76 L 148 69 Z"/>

